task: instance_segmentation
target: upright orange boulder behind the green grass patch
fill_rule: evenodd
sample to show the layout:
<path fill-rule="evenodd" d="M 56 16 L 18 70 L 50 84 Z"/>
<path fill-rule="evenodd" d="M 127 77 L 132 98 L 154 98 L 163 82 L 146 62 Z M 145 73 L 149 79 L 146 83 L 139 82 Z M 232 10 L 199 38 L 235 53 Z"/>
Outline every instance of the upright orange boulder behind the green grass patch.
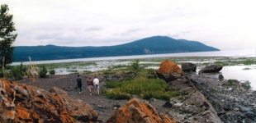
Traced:
<path fill-rule="evenodd" d="M 157 70 L 156 73 L 159 78 L 164 79 L 167 82 L 177 80 L 184 75 L 183 70 L 168 59 L 160 64 L 159 70 Z"/>

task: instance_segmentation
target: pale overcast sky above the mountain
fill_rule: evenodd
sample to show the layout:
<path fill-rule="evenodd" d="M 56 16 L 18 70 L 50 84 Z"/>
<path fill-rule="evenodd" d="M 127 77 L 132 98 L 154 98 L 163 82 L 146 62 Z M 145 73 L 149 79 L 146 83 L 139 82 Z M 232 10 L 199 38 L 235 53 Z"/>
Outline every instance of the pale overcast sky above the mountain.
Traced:
<path fill-rule="evenodd" d="M 152 36 L 220 50 L 256 48 L 254 0 L 1 0 L 14 46 L 111 46 Z"/>

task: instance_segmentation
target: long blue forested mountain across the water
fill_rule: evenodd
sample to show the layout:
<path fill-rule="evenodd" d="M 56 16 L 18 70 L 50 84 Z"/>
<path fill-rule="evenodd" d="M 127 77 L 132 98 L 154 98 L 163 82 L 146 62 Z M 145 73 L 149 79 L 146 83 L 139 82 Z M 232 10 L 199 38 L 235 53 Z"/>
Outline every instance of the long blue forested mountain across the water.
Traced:
<path fill-rule="evenodd" d="M 59 60 L 87 57 L 116 57 L 177 52 L 208 52 L 220 49 L 206 46 L 197 41 L 172 39 L 166 36 L 154 36 L 116 46 L 103 47 L 60 47 L 18 46 L 14 50 L 15 62 L 26 62 L 30 56 L 33 61 Z"/>

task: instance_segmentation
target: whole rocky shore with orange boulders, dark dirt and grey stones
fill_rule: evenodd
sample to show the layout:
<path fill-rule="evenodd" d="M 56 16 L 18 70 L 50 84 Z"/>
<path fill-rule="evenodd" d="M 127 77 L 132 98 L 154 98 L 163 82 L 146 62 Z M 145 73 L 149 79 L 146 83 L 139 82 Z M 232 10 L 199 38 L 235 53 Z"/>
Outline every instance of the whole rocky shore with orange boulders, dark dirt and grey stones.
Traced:
<path fill-rule="evenodd" d="M 36 80 L 36 84 L 29 83 L 29 79 L 17 83 L 2 79 L 0 122 L 256 122 L 255 91 L 248 91 L 240 84 L 229 85 L 222 80 L 223 76 L 197 75 L 196 66 L 187 66 L 192 66 L 192 71 L 184 72 L 185 68 L 166 60 L 154 73 L 169 84 L 170 90 L 182 93 L 170 101 L 136 96 L 130 101 L 111 100 L 102 92 L 100 96 L 93 92 L 90 95 L 85 82 L 83 93 L 78 94 L 74 88 L 76 75 L 52 75 Z M 221 70 L 220 66 L 212 68 Z M 97 76 L 103 87 L 105 80 L 133 75 Z"/>

